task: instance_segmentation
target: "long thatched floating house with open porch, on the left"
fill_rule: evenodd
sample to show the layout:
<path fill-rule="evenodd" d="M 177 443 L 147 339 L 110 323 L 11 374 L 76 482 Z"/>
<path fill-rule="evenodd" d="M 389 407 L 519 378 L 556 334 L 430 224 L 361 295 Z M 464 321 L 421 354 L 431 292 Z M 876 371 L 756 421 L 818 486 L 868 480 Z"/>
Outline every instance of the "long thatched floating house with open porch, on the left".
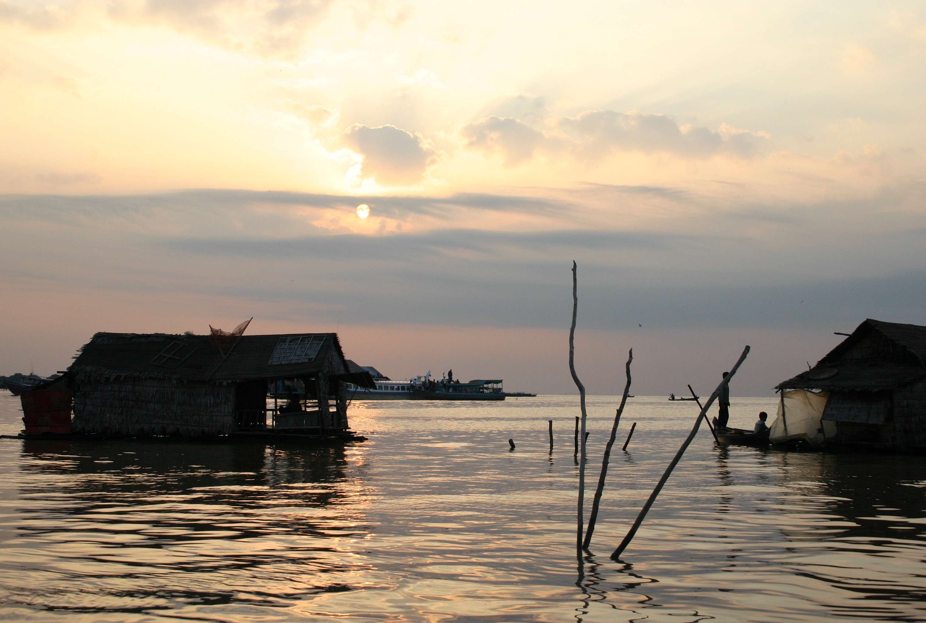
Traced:
<path fill-rule="evenodd" d="M 279 412 L 267 400 L 278 380 L 301 380 L 307 388 Z M 74 433 L 187 436 L 344 434 L 346 384 L 372 385 L 369 374 L 348 369 L 336 333 L 96 333 L 59 385 L 65 382 Z M 31 392 L 36 406 L 42 391 Z M 44 410 L 26 416 L 29 430 L 28 418 L 39 423 Z"/>

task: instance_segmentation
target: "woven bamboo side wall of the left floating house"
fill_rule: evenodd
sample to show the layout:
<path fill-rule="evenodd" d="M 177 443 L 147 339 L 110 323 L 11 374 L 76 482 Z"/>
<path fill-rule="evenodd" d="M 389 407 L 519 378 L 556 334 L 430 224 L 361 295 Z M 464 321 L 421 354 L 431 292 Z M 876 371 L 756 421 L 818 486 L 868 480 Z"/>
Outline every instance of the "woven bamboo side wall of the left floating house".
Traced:
<path fill-rule="evenodd" d="M 235 428 L 234 386 L 164 379 L 84 382 L 73 430 L 128 435 L 220 435 Z"/>

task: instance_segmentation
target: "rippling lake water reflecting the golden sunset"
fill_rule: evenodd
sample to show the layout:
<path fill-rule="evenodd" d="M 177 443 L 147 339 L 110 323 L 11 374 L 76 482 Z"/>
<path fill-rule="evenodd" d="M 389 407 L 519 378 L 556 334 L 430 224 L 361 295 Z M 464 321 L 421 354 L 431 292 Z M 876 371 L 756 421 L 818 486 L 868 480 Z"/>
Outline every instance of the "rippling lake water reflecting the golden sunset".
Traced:
<path fill-rule="evenodd" d="M 589 399 L 589 504 L 617 402 Z M 740 426 L 775 406 L 733 402 Z M 625 411 L 580 580 L 577 414 L 570 396 L 366 403 L 369 442 L 345 448 L 0 440 L 0 619 L 926 620 L 920 457 L 702 430 L 611 561 L 696 415 L 664 398 Z M 0 392 L 0 432 L 19 417 Z"/>

